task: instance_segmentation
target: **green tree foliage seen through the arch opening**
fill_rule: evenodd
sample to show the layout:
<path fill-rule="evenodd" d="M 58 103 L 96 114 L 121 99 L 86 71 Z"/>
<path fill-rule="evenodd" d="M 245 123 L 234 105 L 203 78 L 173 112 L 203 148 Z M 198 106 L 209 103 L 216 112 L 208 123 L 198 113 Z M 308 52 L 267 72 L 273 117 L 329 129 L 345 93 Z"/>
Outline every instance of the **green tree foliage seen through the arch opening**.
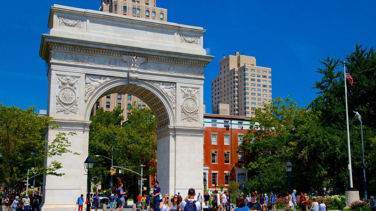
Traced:
<path fill-rule="evenodd" d="M 102 155 L 111 158 L 112 144 L 114 146 L 113 165 L 114 166 L 139 166 L 140 164 L 149 166 L 144 167 L 143 174 L 150 175 L 156 173 L 156 166 L 151 162 L 156 159 L 156 134 L 157 128 L 155 117 L 150 109 L 138 107 L 136 102 L 132 103 L 131 113 L 128 121 L 124 120 L 120 107 L 111 112 L 105 112 L 99 108 L 96 115 L 90 120 L 89 133 L 89 153 L 91 155 Z M 116 136 L 112 137 L 112 133 Z M 111 160 L 104 157 L 93 157 L 96 164 L 92 171 L 92 181 L 94 183 L 109 184 Z M 141 172 L 140 167 L 126 167 L 135 172 Z M 118 168 L 117 169 L 118 172 Z M 136 174 L 124 169 L 124 175 L 115 175 L 123 181 L 127 181 Z M 115 184 L 115 182 L 114 182 Z M 126 185 L 126 182 L 124 183 Z M 126 188 L 126 187 L 124 187 Z"/>

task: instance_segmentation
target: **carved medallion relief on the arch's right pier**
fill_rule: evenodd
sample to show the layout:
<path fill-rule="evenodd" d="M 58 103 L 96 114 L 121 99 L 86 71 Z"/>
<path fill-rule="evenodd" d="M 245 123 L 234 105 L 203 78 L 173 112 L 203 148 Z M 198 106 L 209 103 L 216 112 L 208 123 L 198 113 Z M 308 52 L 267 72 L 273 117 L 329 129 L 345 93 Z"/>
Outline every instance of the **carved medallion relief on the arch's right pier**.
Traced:
<path fill-rule="evenodd" d="M 199 89 L 181 88 L 181 93 L 183 95 L 181 121 L 199 122 L 199 105 L 197 104 Z"/>

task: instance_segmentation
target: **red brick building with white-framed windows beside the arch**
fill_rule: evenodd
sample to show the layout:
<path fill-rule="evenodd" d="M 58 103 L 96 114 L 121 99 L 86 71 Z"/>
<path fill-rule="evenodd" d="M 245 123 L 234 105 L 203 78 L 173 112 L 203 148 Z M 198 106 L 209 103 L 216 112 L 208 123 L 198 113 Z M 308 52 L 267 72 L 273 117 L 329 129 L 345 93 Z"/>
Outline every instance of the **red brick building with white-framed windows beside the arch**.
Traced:
<path fill-rule="evenodd" d="M 244 181 L 248 179 L 244 168 L 244 156 L 237 153 L 235 147 L 242 142 L 244 133 L 255 123 L 247 116 L 230 116 L 204 114 L 204 176 L 209 190 L 219 189 L 219 185 L 227 185 L 237 181 L 244 189 Z M 217 184 L 215 186 L 215 184 Z"/>

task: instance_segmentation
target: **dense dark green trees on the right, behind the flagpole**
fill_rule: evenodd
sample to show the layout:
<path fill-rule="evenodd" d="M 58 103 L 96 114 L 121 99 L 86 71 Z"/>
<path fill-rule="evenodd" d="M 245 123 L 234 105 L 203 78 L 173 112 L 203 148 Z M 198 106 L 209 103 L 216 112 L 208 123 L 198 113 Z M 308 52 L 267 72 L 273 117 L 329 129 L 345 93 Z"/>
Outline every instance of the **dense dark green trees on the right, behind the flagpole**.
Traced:
<path fill-rule="evenodd" d="M 376 166 L 376 53 L 374 48 L 356 45 L 355 51 L 346 55 L 346 66 L 354 78 L 347 83 L 350 146 L 354 187 L 362 189 L 361 131 L 353 119 L 352 110 L 362 115 L 364 156 L 368 194 L 375 194 Z M 339 59 L 327 56 L 321 60 L 323 74 L 315 81 L 317 98 L 306 108 L 299 107 L 293 99 L 275 98 L 256 113 L 255 125 L 243 136 L 238 151 L 243 151 L 246 168 L 251 174 L 246 182 L 248 191 L 260 190 L 258 175 L 264 175 L 262 190 L 287 190 L 287 160 L 293 164 L 291 187 L 301 191 L 321 191 L 324 186 L 347 188 L 347 133 L 344 93 L 344 71 Z M 265 153 L 270 150 L 271 154 Z M 359 191 L 362 193 L 363 191 Z"/>

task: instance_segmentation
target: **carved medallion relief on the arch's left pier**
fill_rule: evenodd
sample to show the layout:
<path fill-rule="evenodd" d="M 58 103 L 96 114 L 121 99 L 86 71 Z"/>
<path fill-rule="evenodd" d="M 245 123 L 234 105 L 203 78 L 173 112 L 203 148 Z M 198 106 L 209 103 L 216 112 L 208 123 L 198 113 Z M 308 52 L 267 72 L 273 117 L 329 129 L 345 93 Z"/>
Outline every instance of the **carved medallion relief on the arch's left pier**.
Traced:
<path fill-rule="evenodd" d="M 76 93 L 78 78 L 58 77 L 59 93 L 56 95 L 56 113 L 77 114 L 78 96 Z"/>

